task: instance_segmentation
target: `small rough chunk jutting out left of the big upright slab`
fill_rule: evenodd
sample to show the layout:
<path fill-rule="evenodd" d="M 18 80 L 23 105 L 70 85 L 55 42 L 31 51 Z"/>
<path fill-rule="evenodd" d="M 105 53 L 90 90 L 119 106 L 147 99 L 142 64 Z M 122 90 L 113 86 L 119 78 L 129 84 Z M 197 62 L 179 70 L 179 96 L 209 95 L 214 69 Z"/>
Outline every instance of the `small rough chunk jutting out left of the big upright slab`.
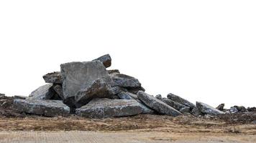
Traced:
<path fill-rule="evenodd" d="M 45 79 L 46 83 L 62 84 L 63 82 L 61 79 L 60 71 L 45 74 L 42 78 Z"/>

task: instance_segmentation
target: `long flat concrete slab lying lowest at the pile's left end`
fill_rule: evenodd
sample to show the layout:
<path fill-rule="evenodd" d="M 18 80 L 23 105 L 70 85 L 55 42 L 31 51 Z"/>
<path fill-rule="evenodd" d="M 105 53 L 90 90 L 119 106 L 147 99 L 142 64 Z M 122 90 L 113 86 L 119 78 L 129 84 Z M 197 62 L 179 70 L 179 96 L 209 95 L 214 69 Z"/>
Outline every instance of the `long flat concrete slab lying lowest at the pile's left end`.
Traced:
<path fill-rule="evenodd" d="M 68 116 L 70 109 L 60 100 L 14 99 L 19 112 L 38 114 L 46 117 Z"/>

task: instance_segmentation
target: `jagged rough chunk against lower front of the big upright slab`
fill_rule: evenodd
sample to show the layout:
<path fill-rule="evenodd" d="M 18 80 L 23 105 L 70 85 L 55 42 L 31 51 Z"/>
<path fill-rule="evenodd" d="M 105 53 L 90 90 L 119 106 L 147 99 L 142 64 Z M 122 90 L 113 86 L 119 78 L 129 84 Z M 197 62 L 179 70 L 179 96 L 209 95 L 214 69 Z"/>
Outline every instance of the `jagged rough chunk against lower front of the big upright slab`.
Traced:
<path fill-rule="evenodd" d="M 93 98 L 110 98 L 110 87 L 102 79 L 96 79 L 90 86 L 86 89 L 81 89 L 77 92 L 76 107 L 81 107 L 87 104 Z"/>

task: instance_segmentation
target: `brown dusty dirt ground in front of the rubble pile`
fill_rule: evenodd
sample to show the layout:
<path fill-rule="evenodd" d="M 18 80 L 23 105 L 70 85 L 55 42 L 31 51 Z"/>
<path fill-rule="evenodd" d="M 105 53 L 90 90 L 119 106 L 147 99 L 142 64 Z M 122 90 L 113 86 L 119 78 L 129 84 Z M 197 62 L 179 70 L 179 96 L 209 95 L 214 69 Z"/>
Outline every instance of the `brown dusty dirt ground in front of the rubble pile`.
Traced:
<path fill-rule="evenodd" d="M 0 142 L 256 142 L 256 112 L 86 119 L 17 112 L 0 98 Z"/>

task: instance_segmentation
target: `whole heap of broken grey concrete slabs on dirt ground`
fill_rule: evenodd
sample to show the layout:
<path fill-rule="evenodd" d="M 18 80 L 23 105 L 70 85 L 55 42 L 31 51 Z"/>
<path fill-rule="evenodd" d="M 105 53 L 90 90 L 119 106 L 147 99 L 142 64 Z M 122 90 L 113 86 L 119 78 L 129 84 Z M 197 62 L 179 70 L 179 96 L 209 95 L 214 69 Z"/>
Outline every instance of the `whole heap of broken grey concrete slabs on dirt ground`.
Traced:
<path fill-rule="evenodd" d="M 93 61 L 70 62 L 60 65 L 60 71 L 45 74 L 47 84 L 26 99 L 14 99 L 19 112 L 46 117 L 76 114 L 88 118 L 127 117 L 136 114 L 218 115 L 247 110 L 242 107 L 214 108 L 202 102 L 193 104 L 175 94 L 168 98 L 152 96 L 138 79 L 106 70 L 111 66 L 109 54 Z M 253 109 L 252 109 L 253 110 Z M 247 112 L 250 112 L 247 110 Z"/>

